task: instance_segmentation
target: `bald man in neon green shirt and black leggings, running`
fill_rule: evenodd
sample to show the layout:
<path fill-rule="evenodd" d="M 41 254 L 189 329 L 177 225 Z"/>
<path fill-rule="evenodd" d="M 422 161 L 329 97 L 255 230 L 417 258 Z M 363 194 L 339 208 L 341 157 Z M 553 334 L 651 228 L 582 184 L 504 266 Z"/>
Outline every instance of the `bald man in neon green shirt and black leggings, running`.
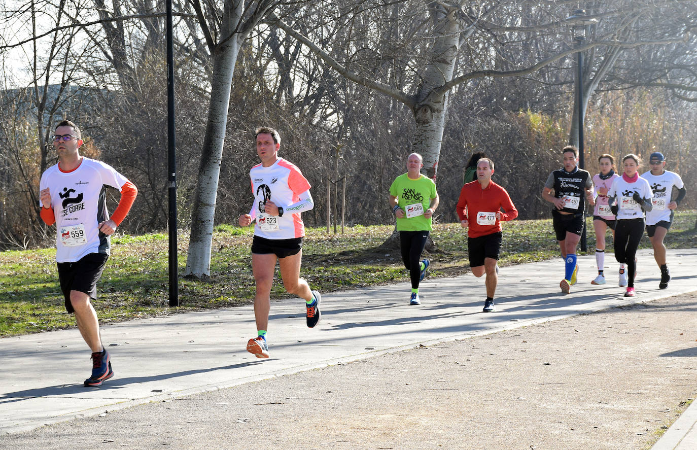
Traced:
<path fill-rule="evenodd" d="M 390 186 L 390 206 L 397 217 L 399 247 L 404 267 L 411 277 L 409 304 L 420 304 L 419 282 L 424 279 L 429 260 L 419 261 L 431 229 L 431 217 L 438 208 L 436 183 L 420 173 L 423 158 L 412 153 L 406 160 L 406 173 Z"/>

